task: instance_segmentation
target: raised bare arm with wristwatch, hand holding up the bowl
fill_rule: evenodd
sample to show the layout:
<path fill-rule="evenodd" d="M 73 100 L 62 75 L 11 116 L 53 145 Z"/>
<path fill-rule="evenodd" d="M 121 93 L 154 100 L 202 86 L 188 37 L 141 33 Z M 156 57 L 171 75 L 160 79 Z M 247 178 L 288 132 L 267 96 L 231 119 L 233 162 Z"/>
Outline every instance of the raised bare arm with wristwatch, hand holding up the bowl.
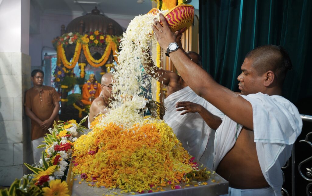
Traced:
<path fill-rule="evenodd" d="M 152 28 L 160 46 L 167 49 L 169 43 L 175 42 L 176 35 L 171 32 L 162 14 L 160 14 L 160 19 L 163 26 L 154 20 L 155 25 Z M 232 120 L 253 130 L 252 106 L 247 100 L 219 85 L 207 72 L 191 61 L 182 50 L 178 49 L 169 55 L 183 80 L 197 95 L 212 103 Z"/>

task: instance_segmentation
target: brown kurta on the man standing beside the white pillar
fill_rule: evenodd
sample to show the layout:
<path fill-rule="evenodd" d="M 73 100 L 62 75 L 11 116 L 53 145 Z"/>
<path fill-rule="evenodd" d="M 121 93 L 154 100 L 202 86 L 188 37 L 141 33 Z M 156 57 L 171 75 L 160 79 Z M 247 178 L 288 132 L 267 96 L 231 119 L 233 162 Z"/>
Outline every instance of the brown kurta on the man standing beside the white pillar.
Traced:
<path fill-rule="evenodd" d="M 60 100 L 60 96 L 53 87 L 43 86 L 41 91 L 34 88 L 27 90 L 24 105 L 30 108 L 40 120 L 44 121 L 50 118 L 55 107 L 54 103 Z M 56 122 L 59 120 L 58 115 L 54 120 Z M 49 131 L 41 129 L 40 125 L 32 120 L 32 140 L 43 137 L 46 133 Z"/>

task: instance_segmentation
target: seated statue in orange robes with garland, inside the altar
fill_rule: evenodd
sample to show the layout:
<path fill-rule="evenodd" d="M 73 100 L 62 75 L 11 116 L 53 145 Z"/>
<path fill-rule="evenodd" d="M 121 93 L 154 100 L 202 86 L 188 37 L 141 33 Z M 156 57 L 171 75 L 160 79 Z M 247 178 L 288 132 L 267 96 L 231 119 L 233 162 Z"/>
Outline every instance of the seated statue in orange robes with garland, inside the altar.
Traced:
<path fill-rule="evenodd" d="M 92 101 L 100 96 L 100 84 L 95 80 L 94 74 L 90 74 L 89 80 L 82 86 L 82 103 L 91 105 Z"/>

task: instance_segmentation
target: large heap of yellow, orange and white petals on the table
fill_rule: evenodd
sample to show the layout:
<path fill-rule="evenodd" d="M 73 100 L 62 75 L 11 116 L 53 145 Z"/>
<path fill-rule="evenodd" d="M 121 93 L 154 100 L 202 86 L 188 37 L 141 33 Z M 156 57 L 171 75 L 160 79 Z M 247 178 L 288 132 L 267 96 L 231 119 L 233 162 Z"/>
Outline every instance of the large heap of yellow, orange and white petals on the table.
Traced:
<path fill-rule="evenodd" d="M 134 97 L 92 122 L 92 131 L 74 145 L 75 174 L 94 186 L 122 192 L 175 185 L 196 163 L 163 121 L 143 117 L 143 98 Z"/>

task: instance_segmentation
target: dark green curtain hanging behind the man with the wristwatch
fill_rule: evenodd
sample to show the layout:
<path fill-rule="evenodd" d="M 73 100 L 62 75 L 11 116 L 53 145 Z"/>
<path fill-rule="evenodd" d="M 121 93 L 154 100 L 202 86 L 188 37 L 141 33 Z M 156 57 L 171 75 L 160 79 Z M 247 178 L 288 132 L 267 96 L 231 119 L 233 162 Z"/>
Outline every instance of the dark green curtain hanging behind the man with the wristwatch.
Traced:
<path fill-rule="evenodd" d="M 199 0 L 200 53 L 204 69 L 238 91 L 237 76 L 251 49 L 285 47 L 293 63 L 284 97 L 296 103 L 312 96 L 311 0 Z"/>

